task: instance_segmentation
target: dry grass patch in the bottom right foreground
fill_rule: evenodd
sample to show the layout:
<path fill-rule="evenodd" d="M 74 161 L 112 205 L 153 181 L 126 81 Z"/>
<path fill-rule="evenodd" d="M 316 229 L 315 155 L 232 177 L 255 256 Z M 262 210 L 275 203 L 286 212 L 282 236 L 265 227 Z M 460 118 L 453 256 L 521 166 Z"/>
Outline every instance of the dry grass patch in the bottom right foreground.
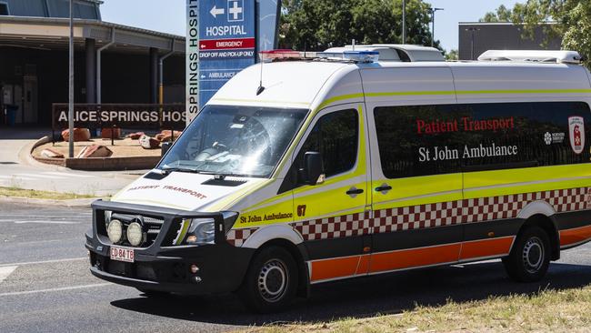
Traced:
<path fill-rule="evenodd" d="M 591 287 L 543 290 L 443 306 L 416 306 L 396 315 L 315 324 L 250 328 L 248 332 L 582 332 L 591 328 Z"/>

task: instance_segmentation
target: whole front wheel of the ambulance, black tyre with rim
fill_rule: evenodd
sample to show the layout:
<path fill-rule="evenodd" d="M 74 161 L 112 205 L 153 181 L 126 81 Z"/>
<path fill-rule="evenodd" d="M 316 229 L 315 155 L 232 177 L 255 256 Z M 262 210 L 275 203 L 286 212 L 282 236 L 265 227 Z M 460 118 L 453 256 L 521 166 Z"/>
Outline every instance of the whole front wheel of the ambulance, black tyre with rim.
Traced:
<path fill-rule="evenodd" d="M 260 313 L 285 309 L 297 291 L 297 265 L 283 247 L 266 247 L 251 262 L 238 290 L 245 306 Z"/>

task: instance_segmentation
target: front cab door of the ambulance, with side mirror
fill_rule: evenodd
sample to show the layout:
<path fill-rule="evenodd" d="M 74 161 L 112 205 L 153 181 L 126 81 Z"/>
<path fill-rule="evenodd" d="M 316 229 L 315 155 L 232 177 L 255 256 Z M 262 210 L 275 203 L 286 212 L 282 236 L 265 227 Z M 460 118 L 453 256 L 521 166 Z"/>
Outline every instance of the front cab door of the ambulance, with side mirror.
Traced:
<path fill-rule="evenodd" d="M 366 133 L 362 104 L 328 107 L 314 116 L 296 146 L 290 168 L 295 173 L 294 227 L 304 238 L 311 283 L 366 274 Z M 297 176 L 306 152 L 322 155 L 324 179 L 316 185 L 305 185 Z"/>

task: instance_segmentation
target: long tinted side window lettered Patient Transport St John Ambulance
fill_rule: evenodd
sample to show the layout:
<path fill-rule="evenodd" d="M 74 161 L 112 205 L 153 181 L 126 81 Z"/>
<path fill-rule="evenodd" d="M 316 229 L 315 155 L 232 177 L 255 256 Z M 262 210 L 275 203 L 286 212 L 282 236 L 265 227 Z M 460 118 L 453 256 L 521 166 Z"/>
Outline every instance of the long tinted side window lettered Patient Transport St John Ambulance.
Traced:
<path fill-rule="evenodd" d="M 389 178 L 590 161 L 586 103 L 388 106 L 374 115 Z"/>

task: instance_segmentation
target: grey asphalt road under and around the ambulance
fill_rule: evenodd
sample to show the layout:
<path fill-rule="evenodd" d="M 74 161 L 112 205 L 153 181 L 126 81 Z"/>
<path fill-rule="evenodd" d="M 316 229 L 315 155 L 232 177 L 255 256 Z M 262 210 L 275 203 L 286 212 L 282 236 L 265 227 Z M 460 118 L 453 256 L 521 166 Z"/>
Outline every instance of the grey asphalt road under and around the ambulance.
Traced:
<path fill-rule="evenodd" d="M 500 262 L 489 261 L 326 284 L 285 313 L 261 316 L 231 294 L 145 298 L 134 288 L 94 278 L 83 247 L 89 227 L 89 209 L 0 203 L 0 332 L 228 331 L 591 283 L 591 245 L 585 245 L 564 252 L 536 284 L 513 283 Z"/>

